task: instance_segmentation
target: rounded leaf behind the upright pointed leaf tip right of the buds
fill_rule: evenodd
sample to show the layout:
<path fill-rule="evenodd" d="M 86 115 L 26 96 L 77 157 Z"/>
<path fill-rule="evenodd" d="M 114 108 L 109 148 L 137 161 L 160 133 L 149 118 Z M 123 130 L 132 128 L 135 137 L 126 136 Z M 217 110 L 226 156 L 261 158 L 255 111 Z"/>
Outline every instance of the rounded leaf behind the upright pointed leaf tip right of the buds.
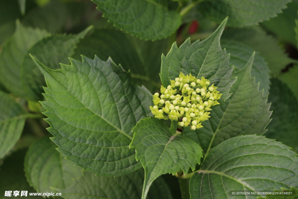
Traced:
<path fill-rule="evenodd" d="M 229 64 L 234 66 L 235 72 L 241 70 L 249 61 L 254 50 L 238 41 L 221 40 L 221 46 L 226 48 L 227 53 L 230 53 Z M 254 56 L 254 63 L 252 64 L 251 75 L 256 78 L 256 82 L 260 82 L 260 90 L 264 89 L 264 95 L 269 94 L 270 88 L 270 70 L 264 58 L 256 53 Z"/>

